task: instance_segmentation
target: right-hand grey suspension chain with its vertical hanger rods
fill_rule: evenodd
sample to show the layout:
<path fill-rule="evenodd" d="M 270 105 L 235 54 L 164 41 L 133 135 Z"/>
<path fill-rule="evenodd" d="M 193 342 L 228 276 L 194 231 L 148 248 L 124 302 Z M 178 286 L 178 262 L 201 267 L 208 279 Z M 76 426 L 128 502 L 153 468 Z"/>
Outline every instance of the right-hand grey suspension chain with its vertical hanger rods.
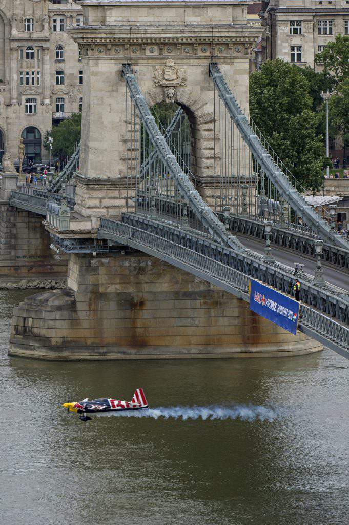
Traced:
<path fill-rule="evenodd" d="M 215 96 L 215 122 L 219 128 L 219 166 L 215 206 L 221 211 L 229 207 L 232 214 L 263 217 L 285 226 L 297 222 L 306 224 L 325 242 L 349 249 L 349 244 L 337 235 L 329 224 L 304 199 L 304 188 L 289 172 L 256 125 L 247 120 L 232 95 L 218 64 L 211 62 L 209 74 L 218 92 Z"/>

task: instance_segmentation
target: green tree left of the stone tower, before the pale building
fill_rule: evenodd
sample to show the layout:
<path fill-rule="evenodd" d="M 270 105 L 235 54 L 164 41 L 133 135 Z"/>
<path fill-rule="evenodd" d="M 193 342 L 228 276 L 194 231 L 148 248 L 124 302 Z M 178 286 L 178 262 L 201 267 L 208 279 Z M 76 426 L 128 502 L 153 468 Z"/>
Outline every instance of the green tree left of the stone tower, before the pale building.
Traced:
<path fill-rule="evenodd" d="M 81 135 L 81 112 L 73 113 L 69 119 L 62 120 L 58 126 L 46 131 L 44 136 L 44 148 L 48 148 L 48 136 L 54 140 L 52 143 L 52 157 L 58 157 L 61 161 L 70 157 L 75 150 L 75 145 L 80 141 Z"/>

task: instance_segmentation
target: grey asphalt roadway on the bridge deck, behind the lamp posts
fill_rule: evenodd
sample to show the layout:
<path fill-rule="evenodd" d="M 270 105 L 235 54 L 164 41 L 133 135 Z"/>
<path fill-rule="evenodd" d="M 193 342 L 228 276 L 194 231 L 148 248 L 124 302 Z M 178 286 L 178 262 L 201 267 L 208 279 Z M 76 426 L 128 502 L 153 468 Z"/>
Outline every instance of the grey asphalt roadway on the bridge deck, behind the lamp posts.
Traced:
<path fill-rule="evenodd" d="M 261 242 L 258 239 L 252 239 L 251 237 L 245 235 L 236 234 L 234 232 L 232 232 L 232 234 L 236 235 L 240 242 L 244 246 L 246 246 L 246 248 L 255 251 L 255 253 L 257 253 L 258 255 L 263 254 L 265 243 Z M 288 266 L 292 270 L 294 270 L 294 262 L 303 264 L 305 274 L 309 277 L 314 277 L 314 270 L 316 266 L 315 258 L 307 257 L 303 254 L 299 254 L 295 251 L 285 248 L 279 248 L 275 246 L 271 246 L 271 248 L 272 255 L 278 262 L 281 262 L 282 264 Z M 338 267 L 327 264 L 326 262 L 322 262 L 322 268 L 323 276 L 326 282 L 349 293 L 349 272 L 347 270 L 341 270 Z"/>

